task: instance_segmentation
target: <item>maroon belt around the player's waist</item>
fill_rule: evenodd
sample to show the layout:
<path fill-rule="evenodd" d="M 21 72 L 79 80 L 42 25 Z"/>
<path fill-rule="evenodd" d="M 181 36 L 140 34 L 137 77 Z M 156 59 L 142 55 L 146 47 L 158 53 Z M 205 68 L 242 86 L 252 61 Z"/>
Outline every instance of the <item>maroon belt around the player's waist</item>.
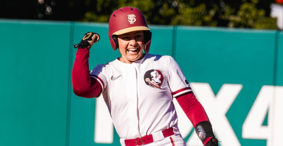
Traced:
<path fill-rule="evenodd" d="M 164 135 L 164 137 L 169 137 L 171 135 L 174 135 L 174 130 L 173 127 L 169 128 L 169 129 L 165 129 L 162 130 L 162 133 Z M 143 146 L 146 144 L 150 144 L 153 142 L 153 137 L 152 134 L 151 135 L 146 135 L 143 137 L 138 137 L 135 139 L 130 139 L 130 140 L 125 140 L 125 145 L 126 146 Z"/>

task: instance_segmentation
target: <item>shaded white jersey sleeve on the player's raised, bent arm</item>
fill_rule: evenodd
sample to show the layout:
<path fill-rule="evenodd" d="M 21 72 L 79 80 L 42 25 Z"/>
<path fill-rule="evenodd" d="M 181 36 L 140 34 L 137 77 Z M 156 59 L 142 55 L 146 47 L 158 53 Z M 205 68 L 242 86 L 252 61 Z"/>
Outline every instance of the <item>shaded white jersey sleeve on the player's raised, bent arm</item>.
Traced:
<path fill-rule="evenodd" d="M 105 67 L 105 64 L 98 64 L 90 72 L 90 77 L 96 79 L 100 83 L 102 87 L 102 92 L 107 86 L 107 76 Z"/>

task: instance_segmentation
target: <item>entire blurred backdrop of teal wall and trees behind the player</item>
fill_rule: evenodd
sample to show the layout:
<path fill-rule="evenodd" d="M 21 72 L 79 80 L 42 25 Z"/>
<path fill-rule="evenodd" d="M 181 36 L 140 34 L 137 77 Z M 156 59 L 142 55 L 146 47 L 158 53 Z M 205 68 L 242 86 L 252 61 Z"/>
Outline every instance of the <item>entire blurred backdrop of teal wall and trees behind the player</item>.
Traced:
<path fill-rule="evenodd" d="M 204 106 L 220 146 L 282 146 L 283 0 L 4 0 L 0 7 L 0 146 L 120 146 L 102 97 L 72 91 L 86 32 L 89 69 L 120 56 L 111 13 L 140 9 L 152 54 L 170 55 Z M 174 100 L 187 146 L 202 146 Z"/>

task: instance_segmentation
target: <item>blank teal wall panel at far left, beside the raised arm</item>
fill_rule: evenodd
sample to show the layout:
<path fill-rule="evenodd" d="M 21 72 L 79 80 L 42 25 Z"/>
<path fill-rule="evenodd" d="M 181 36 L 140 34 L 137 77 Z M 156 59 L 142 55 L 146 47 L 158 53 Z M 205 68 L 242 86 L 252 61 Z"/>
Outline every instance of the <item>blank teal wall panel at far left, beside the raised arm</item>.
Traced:
<path fill-rule="evenodd" d="M 0 146 L 65 146 L 70 23 L 0 21 Z"/>

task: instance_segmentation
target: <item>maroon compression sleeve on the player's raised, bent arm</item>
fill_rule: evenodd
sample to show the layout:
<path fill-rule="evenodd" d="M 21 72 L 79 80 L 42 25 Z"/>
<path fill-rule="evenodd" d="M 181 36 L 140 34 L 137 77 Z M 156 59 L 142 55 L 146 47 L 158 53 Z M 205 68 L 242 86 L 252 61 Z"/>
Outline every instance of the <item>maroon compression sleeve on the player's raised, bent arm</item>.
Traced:
<path fill-rule="evenodd" d="M 74 93 L 85 98 L 98 97 L 102 92 L 101 84 L 89 75 L 89 50 L 78 49 L 72 70 L 72 84 Z"/>

